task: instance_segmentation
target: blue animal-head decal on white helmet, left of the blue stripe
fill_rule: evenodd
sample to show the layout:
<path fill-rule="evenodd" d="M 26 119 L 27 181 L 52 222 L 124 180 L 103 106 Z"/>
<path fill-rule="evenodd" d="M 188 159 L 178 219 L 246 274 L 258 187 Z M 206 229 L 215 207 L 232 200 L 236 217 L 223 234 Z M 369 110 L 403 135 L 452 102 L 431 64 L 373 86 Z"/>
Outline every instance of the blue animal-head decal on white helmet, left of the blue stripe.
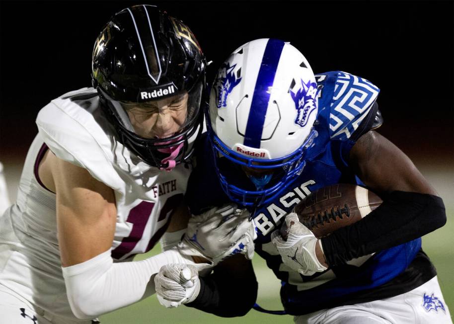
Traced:
<path fill-rule="evenodd" d="M 227 106 L 227 96 L 233 88 L 241 81 L 241 68 L 235 73 L 236 64 L 230 66 L 229 63 L 224 63 L 218 72 L 218 77 L 213 84 L 213 89 L 216 91 L 216 106 L 218 108 Z"/>

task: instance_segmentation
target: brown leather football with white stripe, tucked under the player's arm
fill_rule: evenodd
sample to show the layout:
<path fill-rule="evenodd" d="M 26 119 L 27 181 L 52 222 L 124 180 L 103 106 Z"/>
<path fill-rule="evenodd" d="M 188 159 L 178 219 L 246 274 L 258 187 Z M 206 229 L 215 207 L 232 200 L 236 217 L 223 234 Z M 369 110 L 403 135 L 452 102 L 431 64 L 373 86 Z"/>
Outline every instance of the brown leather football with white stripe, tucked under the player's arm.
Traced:
<path fill-rule="evenodd" d="M 295 207 L 294 212 L 316 238 L 322 238 L 358 222 L 381 203 L 374 192 L 364 187 L 338 183 L 315 190 Z M 287 240 L 285 222 L 280 233 Z"/>

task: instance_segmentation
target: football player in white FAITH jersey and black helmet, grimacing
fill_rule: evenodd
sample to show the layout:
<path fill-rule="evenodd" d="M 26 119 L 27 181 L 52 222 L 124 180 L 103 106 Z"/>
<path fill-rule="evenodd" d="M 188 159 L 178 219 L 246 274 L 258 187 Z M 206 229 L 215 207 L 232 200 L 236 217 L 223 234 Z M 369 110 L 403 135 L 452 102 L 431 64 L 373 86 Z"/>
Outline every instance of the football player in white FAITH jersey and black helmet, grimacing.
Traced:
<path fill-rule="evenodd" d="M 203 258 L 172 247 L 203 120 L 205 58 L 190 29 L 152 5 L 116 13 L 96 39 L 92 81 L 38 114 L 17 201 L 0 217 L 1 324 L 95 323 L 153 294 L 162 265 L 196 276 L 252 243 L 247 213 L 228 205 L 208 213 L 226 240 L 198 231 Z M 166 231 L 166 251 L 132 261 Z"/>

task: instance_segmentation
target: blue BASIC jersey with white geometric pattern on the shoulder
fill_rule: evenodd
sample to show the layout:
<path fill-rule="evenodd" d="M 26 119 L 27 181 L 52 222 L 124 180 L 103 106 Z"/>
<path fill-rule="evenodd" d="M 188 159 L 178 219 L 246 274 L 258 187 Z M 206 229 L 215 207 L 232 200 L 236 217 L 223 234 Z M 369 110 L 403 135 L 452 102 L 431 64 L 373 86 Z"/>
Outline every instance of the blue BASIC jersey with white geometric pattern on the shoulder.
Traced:
<path fill-rule="evenodd" d="M 375 101 L 379 89 L 371 82 L 339 71 L 317 75 L 316 79 L 320 91 L 314 127 L 318 137 L 307 152 L 306 165 L 279 197 L 255 210 L 253 216 L 258 228 L 255 250 L 282 281 L 283 305 L 289 314 L 295 315 L 348 304 L 349 298 L 357 302 L 362 292 L 369 294 L 401 274 L 421 248 L 421 239 L 417 239 L 312 276 L 302 276 L 282 262 L 270 235 L 287 213 L 320 187 L 334 183 L 362 185 L 349 168 L 348 157 L 355 141 L 370 130 L 377 114 Z M 207 137 L 201 141 L 198 152 L 186 193 L 193 214 L 228 201 L 216 176 Z"/>

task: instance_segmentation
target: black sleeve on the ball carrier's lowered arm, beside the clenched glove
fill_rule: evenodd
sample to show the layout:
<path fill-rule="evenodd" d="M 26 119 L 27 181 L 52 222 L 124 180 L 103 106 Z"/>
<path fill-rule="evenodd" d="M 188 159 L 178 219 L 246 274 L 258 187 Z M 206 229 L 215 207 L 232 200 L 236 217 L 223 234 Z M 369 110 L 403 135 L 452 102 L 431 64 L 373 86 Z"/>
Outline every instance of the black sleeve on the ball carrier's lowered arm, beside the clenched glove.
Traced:
<path fill-rule="evenodd" d="M 200 277 L 199 295 L 185 305 L 221 317 L 244 316 L 255 304 L 257 289 L 251 263 L 241 273 L 215 268 L 209 276 Z"/>

